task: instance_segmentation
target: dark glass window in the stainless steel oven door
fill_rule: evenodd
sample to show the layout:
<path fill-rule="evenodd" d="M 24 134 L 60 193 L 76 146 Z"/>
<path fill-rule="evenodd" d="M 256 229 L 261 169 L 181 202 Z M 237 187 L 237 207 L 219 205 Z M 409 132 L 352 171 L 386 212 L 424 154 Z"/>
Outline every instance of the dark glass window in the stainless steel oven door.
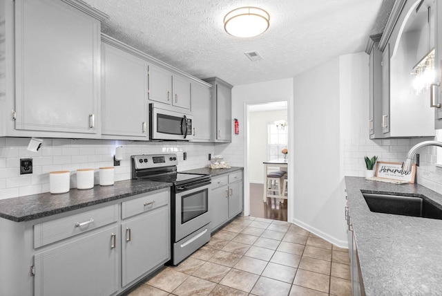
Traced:
<path fill-rule="evenodd" d="M 209 189 L 181 196 L 181 224 L 209 211 Z"/>

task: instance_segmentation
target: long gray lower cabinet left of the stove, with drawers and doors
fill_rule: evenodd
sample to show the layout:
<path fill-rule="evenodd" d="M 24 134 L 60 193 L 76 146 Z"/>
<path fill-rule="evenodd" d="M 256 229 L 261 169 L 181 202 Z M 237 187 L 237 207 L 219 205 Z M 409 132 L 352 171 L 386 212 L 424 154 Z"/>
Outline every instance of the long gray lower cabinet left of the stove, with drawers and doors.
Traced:
<path fill-rule="evenodd" d="M 0 295 L 123 293 L 171 258 L 170 194 L 166 187 L 31 221 L 0 218 Z"/>

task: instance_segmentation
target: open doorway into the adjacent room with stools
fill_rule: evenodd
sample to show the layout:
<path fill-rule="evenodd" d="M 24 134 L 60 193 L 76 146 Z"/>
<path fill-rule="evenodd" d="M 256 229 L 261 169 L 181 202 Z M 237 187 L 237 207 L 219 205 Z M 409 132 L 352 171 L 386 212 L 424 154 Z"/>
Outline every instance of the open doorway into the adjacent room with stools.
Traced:
<path fill-rule="evenodd" d="M 287 149 L 288 130 L 287 101 L 265 104 L 247 104 L 247 163 L 250 215 L 265 219 L 287 221 L 288 200 L 267 198 L 263 202 L 265 173 L 263 163 L 284 158 Z M 269 168 L 278 170 L 278 168 Z M 281 185 L 282 186 L 282 185 Z"/>

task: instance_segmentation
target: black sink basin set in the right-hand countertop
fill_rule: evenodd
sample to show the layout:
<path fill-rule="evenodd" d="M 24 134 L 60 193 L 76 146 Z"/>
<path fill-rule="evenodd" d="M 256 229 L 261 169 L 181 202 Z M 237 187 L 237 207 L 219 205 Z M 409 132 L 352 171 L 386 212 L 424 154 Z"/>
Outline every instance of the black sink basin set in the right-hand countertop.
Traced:
<path fill-rule="evenodd" d="M 442 220 L 442 205 L 430 201 L 425 196 L 365 192 L 362 194 L 372 212 Z"/>

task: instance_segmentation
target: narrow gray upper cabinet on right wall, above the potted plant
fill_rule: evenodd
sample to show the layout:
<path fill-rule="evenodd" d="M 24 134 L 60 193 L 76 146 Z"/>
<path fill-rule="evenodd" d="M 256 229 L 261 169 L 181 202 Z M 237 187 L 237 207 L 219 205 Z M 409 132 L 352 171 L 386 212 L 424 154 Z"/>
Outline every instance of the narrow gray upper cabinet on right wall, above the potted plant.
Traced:
<path fill-rule="evenodd" d="M 369 56 L 369 120 L 370 139 L 383 138 L 382 122 L 382 52 L 378 48 L 381 35 L 370 36 L 373 41 Z"/>

